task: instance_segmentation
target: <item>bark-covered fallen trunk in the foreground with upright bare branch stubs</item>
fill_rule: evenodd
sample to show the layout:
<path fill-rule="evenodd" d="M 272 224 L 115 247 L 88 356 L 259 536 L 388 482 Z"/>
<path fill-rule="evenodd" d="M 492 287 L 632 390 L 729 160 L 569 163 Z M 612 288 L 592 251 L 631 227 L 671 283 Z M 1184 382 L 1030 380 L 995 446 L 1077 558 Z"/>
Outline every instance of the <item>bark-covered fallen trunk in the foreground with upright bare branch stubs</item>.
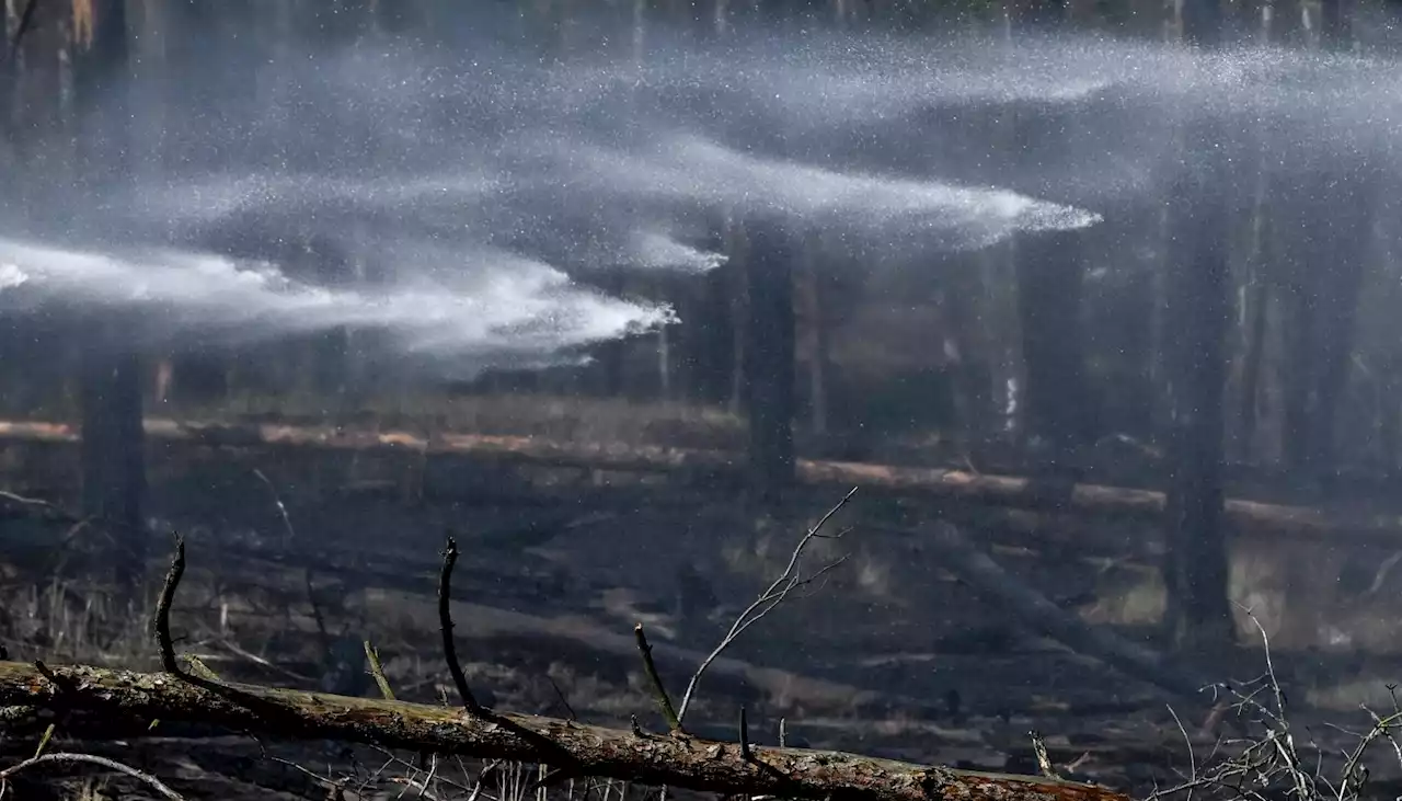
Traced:
<path fill-rule="evenodd" d="M 163 725 L 195 724 L 282 739 L 335 739 L 545 763 L 569 776 L 707 793 L 871 801 L 1127 801 L 1102 787 L 1030 776 L 824 750 L 753 746 L 743 753 L 737 743 L 686 735 L 88 666 L 0 662 L 0 731 L 53 715 L 59 715 L 60 729 L 81 729 L 87 720 L 105 736 L 126 738 L 160 735 Z M 158 722 L 153 727 L 153 721 Z"/>

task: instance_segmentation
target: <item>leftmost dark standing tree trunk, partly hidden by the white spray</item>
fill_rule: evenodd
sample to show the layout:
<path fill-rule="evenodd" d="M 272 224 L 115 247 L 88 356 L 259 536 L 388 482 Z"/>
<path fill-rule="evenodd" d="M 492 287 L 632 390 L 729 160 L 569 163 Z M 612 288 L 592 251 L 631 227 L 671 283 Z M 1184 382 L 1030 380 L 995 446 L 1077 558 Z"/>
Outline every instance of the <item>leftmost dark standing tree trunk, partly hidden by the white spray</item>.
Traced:
<path fill-rule="evenodd" d="M 95 0 L 93 39 L 76 43 L 74 88 L 83 181 L 121 192 L 129 180 L 129 58 L 125 0 Z M 111 337 L 111 321 L 87 328 L 83 348 L 83 512 L 112 526 L 116 579 L 139 585 L 144 565 L 146 494 L 142 365 Z"/>

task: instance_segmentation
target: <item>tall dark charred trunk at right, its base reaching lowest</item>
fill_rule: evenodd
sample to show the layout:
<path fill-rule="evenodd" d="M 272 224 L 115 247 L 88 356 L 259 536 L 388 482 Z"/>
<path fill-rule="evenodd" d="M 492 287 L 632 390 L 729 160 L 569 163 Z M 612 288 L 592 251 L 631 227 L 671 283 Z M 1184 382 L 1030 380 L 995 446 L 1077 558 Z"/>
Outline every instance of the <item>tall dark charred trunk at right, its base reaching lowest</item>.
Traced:
<path fill-rule="evenodd" d="M 1220 0 L 1185 0 L 1190 45 L 1217 43 Z M 1169 488 L 1164 540 L 1168 623 L 1180 649 L 1230 642 L 1227 532 L 1223 515 L 1223 394 L 1225 390 L 1228 241 L 1231 210 L 1221 185 L 1230 173 L 1225 130 L 1204 114 L 1185 121 L 1185 159 L 1168 206 L 1165 341 L 1169 379 Z"/>

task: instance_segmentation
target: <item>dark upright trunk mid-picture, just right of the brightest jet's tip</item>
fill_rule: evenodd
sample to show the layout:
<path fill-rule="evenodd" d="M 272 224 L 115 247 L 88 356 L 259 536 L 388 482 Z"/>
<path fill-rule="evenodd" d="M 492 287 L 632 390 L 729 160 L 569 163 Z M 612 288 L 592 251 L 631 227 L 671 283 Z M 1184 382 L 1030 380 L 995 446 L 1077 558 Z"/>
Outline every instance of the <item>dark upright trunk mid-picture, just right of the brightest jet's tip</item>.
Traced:
<path fill-rule="evenodd" d="M 750 418 L 751 488 L 771 502 L 794 483 L 794 260 L 792 234 L 777 220 L 747 220 L 749 289 L 744 327 L 744 401 Z"/>

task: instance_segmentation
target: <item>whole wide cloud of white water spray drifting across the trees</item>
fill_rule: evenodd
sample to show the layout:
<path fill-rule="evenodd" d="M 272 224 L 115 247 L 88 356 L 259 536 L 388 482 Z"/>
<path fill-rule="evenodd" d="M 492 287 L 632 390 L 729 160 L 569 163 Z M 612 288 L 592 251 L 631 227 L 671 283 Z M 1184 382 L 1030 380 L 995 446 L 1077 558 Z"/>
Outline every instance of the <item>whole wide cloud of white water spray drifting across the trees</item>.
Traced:
<path fill-rule="evenodd" d="M 257 91 L 216 80 L 227 63 L 160 93 L 137 80 L 136 128 L 156 135 L 125 188 L 36 160 L 0 189 L 6 314 L 139 311 L 123 330 L 143 348 L 350 327 L 437 359 L 548 361 L 674 321 L 590 275 L 715 269 L 726 217 L 918 265 L 1157 203 L 1193 159 L 1175 149 L 1189 115 L 1283 168 L 1308 152 L 1394 171 L 1402 118 L 1391 62 L 1089 36 L 656 35 L 564 66 L 376 39 L 217 52 Z M 1011 139 L 1009 114 L 1040 128 Z M 289 264 L 311 240 L 362 279 Z"/>

